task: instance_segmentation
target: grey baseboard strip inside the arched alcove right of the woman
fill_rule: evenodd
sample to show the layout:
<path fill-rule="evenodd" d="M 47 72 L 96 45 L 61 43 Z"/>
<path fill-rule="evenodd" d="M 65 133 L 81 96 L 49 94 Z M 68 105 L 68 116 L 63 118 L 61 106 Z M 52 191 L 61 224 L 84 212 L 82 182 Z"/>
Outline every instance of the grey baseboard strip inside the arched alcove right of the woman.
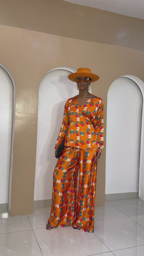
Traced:
<path fill-rule="evenodd" d="M 138 197 L 139 197 L 138 192 L 105 194 L 105 201 L 131 199 L 131 198 L 138 198 Z"/>

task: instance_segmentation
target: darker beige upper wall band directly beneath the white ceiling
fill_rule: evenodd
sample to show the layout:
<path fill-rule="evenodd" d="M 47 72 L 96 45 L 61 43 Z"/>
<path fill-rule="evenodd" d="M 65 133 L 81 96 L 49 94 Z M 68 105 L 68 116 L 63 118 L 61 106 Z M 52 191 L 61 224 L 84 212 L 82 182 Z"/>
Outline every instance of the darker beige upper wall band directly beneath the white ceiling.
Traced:
<path fill-rule="evenodd" d="M 0 24 L 144 50 L 144 20 L 62 0 L 0 0 Z"/>

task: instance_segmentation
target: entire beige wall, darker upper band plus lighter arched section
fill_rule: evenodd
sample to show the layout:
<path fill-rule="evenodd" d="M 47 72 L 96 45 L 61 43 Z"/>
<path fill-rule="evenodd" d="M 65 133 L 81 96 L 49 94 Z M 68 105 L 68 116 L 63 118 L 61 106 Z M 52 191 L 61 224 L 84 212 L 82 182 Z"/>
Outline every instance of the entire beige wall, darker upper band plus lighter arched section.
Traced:
<path fill-rule="evenodd" d="M 104 100 L 106 130 L 107 92 L 113 80 L 125 74 L 144 80 L 144 51 L 135 50 L 143 49 L 144 21 L 61 0 L 0 3 L 0 23 L 4 24 L 0 25 L 0 61 L 12 73 L 16 86 L 11 202 L 14 216 L 33 211 L 38 90 L 42 77 L 58 66 L 91 68 L 100 76 L 91 87 L 93 94 Z M 117 40 L 122 28 L 127 30 L 126 37 Z M 104 205 L 104 197 L 105 148 L 98 164 L 96 206 Z"/>

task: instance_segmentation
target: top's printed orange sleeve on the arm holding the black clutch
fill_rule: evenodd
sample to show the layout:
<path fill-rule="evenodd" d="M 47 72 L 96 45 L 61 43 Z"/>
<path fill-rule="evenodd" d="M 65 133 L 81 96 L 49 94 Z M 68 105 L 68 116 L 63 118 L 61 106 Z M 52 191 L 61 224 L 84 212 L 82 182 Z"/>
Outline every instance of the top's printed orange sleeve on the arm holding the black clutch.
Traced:
<path fill-rule="evenodd" d="M 69 120 L 69 116 L 68 116 L 68 109 L 67 109 L 67 102 L 66 102 L 66 104 L 64 106 L 63 122 L 62 122 L 62 126 L 60 128 L 60 131 L 59 131 L 58 139 L 55 143 L 55 148 L 58 148 L 59 145 L 64 141 L 65 136 L 68 131 L 69 123 L 70 123 L 70 120 Z"/>

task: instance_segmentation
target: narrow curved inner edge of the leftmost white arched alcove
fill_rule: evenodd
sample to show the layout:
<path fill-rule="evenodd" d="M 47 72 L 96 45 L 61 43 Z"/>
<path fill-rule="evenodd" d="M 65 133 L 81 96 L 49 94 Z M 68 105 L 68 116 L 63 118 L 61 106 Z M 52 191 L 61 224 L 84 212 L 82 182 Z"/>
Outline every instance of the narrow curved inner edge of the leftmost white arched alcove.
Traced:
<path fill-rule="evenodd" d="M 6 71 L 10 80 L 12 81 L 12 85 L 13 85 L 12 151 L 11 151 L 11 158 L 10 158 L 9 202 L 8 202 L 8 210 L 10 211 L 11 189 L 12 189 L 12 168 L 13 168 L 14 121 L 15 121 L 15 82 L 14 82 L 14 78 L 13 78 L 12 74 L 10 73 L 9 69 L 1 62 L 0 62 L 0 67 Z M 4 210 L 7 210 L 7 204 L 4 204 L 4 205 L 5 205 Z"/>

